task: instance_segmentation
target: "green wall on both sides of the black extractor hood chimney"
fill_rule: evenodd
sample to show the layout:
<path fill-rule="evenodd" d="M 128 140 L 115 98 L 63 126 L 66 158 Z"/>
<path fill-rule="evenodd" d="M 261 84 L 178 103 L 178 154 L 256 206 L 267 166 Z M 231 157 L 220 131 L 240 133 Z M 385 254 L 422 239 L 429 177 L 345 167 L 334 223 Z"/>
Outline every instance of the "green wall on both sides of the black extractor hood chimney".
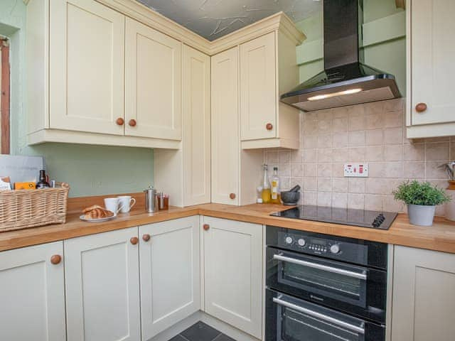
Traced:
<path fill-rule="evenodd" d="M 368 45 L 364 50 L 365 63 L 378 68 L 379 70 L 395 75 L 398 87 L 403 96 L 406 94 L 406 38 L 405 38 L 405 16 L 398 13 L 402 9 L 395 7 L 395 0 L 363 0 L 363 21 L 364 24 L 375 25 L 370 30 L 368 40 L 377 40 L 375 36 L 381 37 L 382 31 L 390 29 L 402 32 L 400 38 L 380 40 L 378 43 Z M 296 25 L 303 31 L 307 39 L 297 48 L 297 60 L 305 60 L 306 55 L 322 56 L 323 21 L 322 12 L 316 13 L 310 18 L 299 21 Z M 378 27 L 376 27 L 378 26 Z M 300 81 L 309 79 L 323 70 L 321 58 L 310 58 L 299 65 Z"/>

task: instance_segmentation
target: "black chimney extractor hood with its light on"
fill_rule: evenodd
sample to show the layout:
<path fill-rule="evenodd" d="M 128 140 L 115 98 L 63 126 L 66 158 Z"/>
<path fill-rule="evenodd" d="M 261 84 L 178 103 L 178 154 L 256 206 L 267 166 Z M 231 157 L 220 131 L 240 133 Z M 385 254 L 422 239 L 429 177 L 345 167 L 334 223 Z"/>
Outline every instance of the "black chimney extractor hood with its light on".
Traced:
<path fill-rule="evenodd" d="M 361 63 L 363 0 L 323 0 L 324 70 L 281 101 L 305 112 L 401 97 L 395 76 Z"/>

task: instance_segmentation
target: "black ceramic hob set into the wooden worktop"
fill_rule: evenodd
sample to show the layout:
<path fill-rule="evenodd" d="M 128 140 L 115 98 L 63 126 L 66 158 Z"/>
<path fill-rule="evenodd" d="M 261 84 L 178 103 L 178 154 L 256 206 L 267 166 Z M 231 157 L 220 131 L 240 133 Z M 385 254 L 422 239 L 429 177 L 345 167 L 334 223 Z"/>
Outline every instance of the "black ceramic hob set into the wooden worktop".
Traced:
<path fill-rule="evenodd" d="M 397 213 L 301 205 L 289 210 L 272 213 L 272 216 L 313 220 L 315 222 L 331 222 L 333 224 L 369 227 L 372 229 L 389 229 L 395 217 L 397 217 Z"/>

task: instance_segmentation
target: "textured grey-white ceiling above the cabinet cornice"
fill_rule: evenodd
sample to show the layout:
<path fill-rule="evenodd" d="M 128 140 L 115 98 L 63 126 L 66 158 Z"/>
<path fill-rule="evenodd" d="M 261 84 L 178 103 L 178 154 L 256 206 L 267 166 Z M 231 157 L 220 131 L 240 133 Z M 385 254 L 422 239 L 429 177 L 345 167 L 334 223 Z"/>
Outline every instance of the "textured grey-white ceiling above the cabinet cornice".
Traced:
<path fill-rule="evenodd" d="M 321 11 L 320 0 L 137 0 L 208 40 L 279 11 L 301 21 Z"/>

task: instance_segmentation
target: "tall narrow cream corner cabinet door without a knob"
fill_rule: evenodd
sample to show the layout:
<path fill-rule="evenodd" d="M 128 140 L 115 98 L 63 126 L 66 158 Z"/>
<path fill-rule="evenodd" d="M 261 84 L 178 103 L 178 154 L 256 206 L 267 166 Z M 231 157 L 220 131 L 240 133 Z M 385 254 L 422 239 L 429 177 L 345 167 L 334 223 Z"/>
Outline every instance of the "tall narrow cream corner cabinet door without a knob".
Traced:
<path fill-rule="evenodd" d="M 183 45 L 183 200 L 210 202 L 210 57 Z"/>

